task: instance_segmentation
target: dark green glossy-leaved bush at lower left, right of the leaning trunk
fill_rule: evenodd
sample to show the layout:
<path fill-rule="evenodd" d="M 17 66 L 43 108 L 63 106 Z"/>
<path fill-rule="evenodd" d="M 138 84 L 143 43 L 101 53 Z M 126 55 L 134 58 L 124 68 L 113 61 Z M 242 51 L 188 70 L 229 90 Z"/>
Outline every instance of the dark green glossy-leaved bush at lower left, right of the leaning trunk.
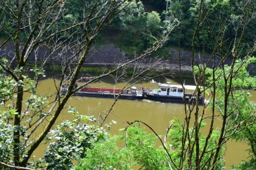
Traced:
<path fill-rule="evenodd" d="M 74 112 L 74 110 L 70 110 Z M 106 131 L 96 125 L 84 124 L 94 120 L 87 116 L 76 116 L 73 121 L 65 121 L 51 130 L 50 142 L 44 159 L 47 169 L 71 169 L 73 161 L 86 157 L 86 150 L 98 140 L 102 140 Z"/>

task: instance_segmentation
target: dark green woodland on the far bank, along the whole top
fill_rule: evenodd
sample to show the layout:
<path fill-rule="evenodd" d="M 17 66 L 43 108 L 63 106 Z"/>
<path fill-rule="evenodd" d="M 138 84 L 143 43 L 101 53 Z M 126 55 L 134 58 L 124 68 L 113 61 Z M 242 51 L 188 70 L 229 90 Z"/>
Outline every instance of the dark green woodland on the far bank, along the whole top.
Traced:
<path fill-rule="evenodd" d="M 94 5 L 96 1 L 77 1 L 77 0 L 69 0 L 65 3 L 65 13 L 59 19 L 58 24 L 53 26 L 53 31 L 61 30 L 66 26 L 71 26 L 71 24 L 75 22 L 83 22 L 84 16 L 82 15 L 83 11 L 90 11 L 89 9 Z M 96 8 L 99 9 L 100 6 L 106 1 L 100 0 L 97 3 Z M 106 3 L 111 4 L 112 1 L 107 1 Z M 8 2 L 8 6 L 15 6 L 13 1 Z M 46 3 L 49 5 L 50 1 Z M 131 1 L 129 5 L 127 5 L 129 1 L 127 1 L 121 8 L 125 7 L 123 12 L 117 17 L 112 26 L 120 28 L 121 32 L 125 34 L 129 34 L 126 36 L 125 40 L 119 39 L 117 45 L 121 45 L 121 48 L 124 52 L 127 52 L 128 55 L 133 55 L 138 52 L 142 52 L 146 50 L 149 45 L 152 44 L 152 39 L 150 36 L 145 36 L 141 33 L 148 34 L 148 31 L 154 36 L 156 32 L 160 32 L 162 27 L 168 28 L 168 25 L 164 26 L 163 22 L 173 22 L 168 21 L 168 16 L 172 15 L 179 19 L 181 22 L 179 27 L 174 30 L 174 34 L 170 38 L 170 44 L 179 44 L 181 42 L 181 46 L 183 48 L 190 48 L 191 40 L 193 38 L 193 33 L 195 29 L 195 25 L 197 24 L 197 19 L 199 17 L 199 1 L 192 0 L 168 0 L 168 10 L 166 9 L 166 1 L 165 0 L 148 0 L 148 1 Z M 241 34 L 243 28 L 239 27 L 243 23 L 243 19 L 241 15 L 243 14 L 243 9 L 241 7 L 245 5 L 245 1 L 228 1 L 228 0 L 207 0 L 203 3 L 203 12 L 207 13 L 207 19 L 200 26 L 200 30 L 198 35 L 195 38 L 195 48 L 197 50 L 202 50 L 203 46 L 205 50 L 211 51 L 214 46 L 212 42 L 212 38 L 216 40 L 220 40 L 222 35 L 219 30 L 225 30 L 224 39 L 225 44 L 223 44 L 224 51 L 230 50 L 229 45 L 234 41 L 234 37 L 236 36 L 236 32 L 234 28 L 237 30 L 237 34 Z M 144 5 L 148 7 L 150 10 L 146 11 Z M 33 5 L 36 5 L 33 3 Z M 127 6 L 126 6 L 127 5 Z M 248 16 L 253 14 L 253 10 L 255 9 L 255 2 L 251 3 L 251 8 L 248 10 Z M 36 8 L 35 8 L 36 9 Z M 58 9 L 56 7 L 56 9 Z M 96 11 L 97 11 L 96 9 Z M 160 18 L 160 14 L 162 11 L 162 19 Z M 33 11 L 37 13 L 38 11 Z M 102 15 L 104 15 L 102 13 Z M 36 18 L 33 18 L 36 19 Z M 166 19 L 166 21 L 163 21 Z M 243 38 L 241 49 L 245 52 L 249 47 L 253 46 L 254 40 L 256 38 L 255 32 L 255 17 L 252 17 L 249 21 L 249 24 L 245 26 L 245 36 Z M 0 34 L 8 34 L 10 30 L 13 29 L 11 26 L 13 22 L 13 18 L 10 13 L 5 13 L 5 15 L 1 15 L 0 20 L 5 20 L 5 30 Z M 98 20 L 98 19 L 95 19 Z M 229 22 L 229 23 L 228 23 Z M 45 22 L 47 23 L 47 22 Z M 94 24 L 97 24 L 96 22 Z M 83 26 L 81 26 L 83 27 Z M 38 30 L 36 30 L 38 31 Z M 71 29 L 69 32 L 63 32 L 61 36 L 71 36 L 73 38 L 77 38 L 77 33 L 82 30 Z M 212 33 L 210 34 L 211 31 Z M 24 30 L 24 34 L 25 34 Z M 74 34 L 74 32 L 76 32 Z M 72 34 L 73 33 L 73 34 Z M 47 34 L 51 34 L 51 32 L 47 32 Z M 102 38 L 104 39 L 106 35 L 102 34 Z M 129 38 L 129 40 L 127 40 Z M 129 42 L 135 42 L 130 44 Z M 146 45 L 141 45 L 146 44 Z"/>

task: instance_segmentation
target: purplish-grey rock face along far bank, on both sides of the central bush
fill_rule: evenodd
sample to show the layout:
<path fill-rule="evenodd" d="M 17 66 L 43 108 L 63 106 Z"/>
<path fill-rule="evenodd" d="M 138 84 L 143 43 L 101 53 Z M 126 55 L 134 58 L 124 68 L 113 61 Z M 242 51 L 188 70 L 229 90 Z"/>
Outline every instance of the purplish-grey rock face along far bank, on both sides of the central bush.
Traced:
<path fill-rule="evenodd" d="M 22 49 L 20 49 L 22 50 Z M 55 63 L 65 62 L 68 58 L 75 54 L 75 48 L 56 48 L 56 50 L 51 51 L 46 46 L 40 46 L 37 48 L 30 56 L 30 61 L 37 60 L 38 62 L 42 60 L 50 60 Z M 191 52 L 187 50 L 178 50 L 169 48 L 167 50 L 170 55 L 170 59 L 164 60 L 161 70 L 168 70 L 171 72 L 179 71 L 179 56 L 181 56 L 181 68 L 183 73 L 191 73 Z M 181 54 L 179 54 L 181 53 Z M 11 43 L 5 44 L 0 48 L 0 58 L 8 58 L 11 60 L 15 56 L 14 54 L 14 45 Z M 202 64 L 203 60 L 208 62 L 208 67 L 214 65 L 214 60 L 210 58 L 210 54 L 195 53 L 195 64 Z M 93 46 L 86 57 L 85 64 L 87 65 L 115 65 L 125 62 L 125 60 L 133 58 L 131 56 L 125 56 L 124 52 L 121 52 L 120 48 L 117 48 L 114 45 L 102 45 L 102 46 Z M 73 59 L 73 62 L 77 62 L 77 58 Z M 143 62 L 148 63 L 149 60 L 143 60 Z M 225 61 L 227 65 L 230 64 L 231 60 Z M 216 66 L 220 63 L 220 58 L 216 57 Z M 249 66 L 249 71 L 255 73 L 256 64 Z"/>

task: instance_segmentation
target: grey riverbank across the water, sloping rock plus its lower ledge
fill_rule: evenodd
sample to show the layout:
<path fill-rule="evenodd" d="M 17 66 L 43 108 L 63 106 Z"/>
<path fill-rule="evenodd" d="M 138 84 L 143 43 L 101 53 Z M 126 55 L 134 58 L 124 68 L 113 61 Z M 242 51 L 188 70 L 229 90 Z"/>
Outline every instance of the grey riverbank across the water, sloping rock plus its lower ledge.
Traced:
<path fill-rule="evenodd" d="M 56 65 L 55 69 L 61 69 L 60 66 L 63 63 L 63 61 L 70 58 L 70 56 L 73 55 L 73 48 L 67 49 L 61 49 L 58 48 L 55 51 L 49 51 L 49 48 L 46 46 L 40 46 L 34 52 L 31 54 L 29 58 L 30 63 L 36 62 L 40 63 L 40 61 L 45 60 L 45 58 L 48 58 L 48 65 Z M 152 65 L 154 60 L 158 60 L 158 58 L 161 58 L 161 65 L 158 65 L 159 73 L 170 73 L 172 75 L 192 75 L 192 68 L 191 68 L 191 52 L 184 49 L 177 49 L 177 48 L 164 48 L 164 56 L 161 56 L 160 54 L 152 54 L 150 56 L 147 56 L 143 60 L 141 60 L 138 63 L 132 63 L 129 65 L 129 68 L 133 68 L 134 66 L 141 65 L 142 67 L 145 67 L 147 65 Z M 3 47 L 0 49 L 0 56 L 6 57 L 11 60 L 15 56 L 15 47 L 14 44 L 11 44 L 11 42 L 7 42 Z M 166 57 L 167 56 L 167 57 Z M 209 60 L 207 62 L 208 67 L 212 67 L 214 65 L 214 61 L 210 60 L 210 54 L 205 54 L 203 58 L 203 54 L 200 52 L 195 53 L 195 63 L 203 63 L 203 60 Z M 50 60 L 51 58 L 51 60 Z M 96 73 L 102 73 L 103 69 L 108 68 L 114 68 L 118 65 L 121 65 L 128 60 L 133 59 L 134 56 L 127 56 L 124 52 L 121 51 L 121 49 L 118 46 L 115 46 L 113 44 L 108 45 L 94 45 L 90 49 L 90 52 L 87 55 L 86 61 L 84 63 L 84 67 L 82 70 L 89 71 L 92 73 L 93 71 L 96 71 Z M 73 60 L 73 65 L 77 60 Z M 216 66 L 219 64 L 220 58 L 216 58 Z M 230 64 L 231 60 L 227 59 L 226 64 Z M 180 63 L 181 63 L 181 70 L 180 70 Z M 46 65 L 46 69 L 49 69 Z M 249 66 L 249 71 L 252 75 L 256 75 L 256 64 Z"/>

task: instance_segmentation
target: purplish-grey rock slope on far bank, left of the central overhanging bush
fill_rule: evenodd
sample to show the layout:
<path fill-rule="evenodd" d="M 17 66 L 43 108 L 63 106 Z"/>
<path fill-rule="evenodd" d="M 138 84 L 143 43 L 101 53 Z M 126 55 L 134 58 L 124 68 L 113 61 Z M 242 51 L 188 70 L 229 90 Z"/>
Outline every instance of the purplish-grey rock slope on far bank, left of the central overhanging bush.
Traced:
<path fill-rule="evenodd" d="M 11 60 L 14 56 L 14 44 L 7 43 L 0 48 L 0 58 L 8 58 Z M 20 49 L 22 50 L 22 48 Z M 53 60 L 54 62 L 63 62 L 75 54 L 75 48 L 55 48 L 54 51 L 46 46 L 40 46 L 30 55 L 29 61 L 42 61 L 45 59 Z M 120 63 L 125 60 L 125 54 L 120 48 L 115 48 L 114 45 L 93 46 L 86 56 L 86 63 Z M 73 62 L 77 62 L 74 58 Z"/>

